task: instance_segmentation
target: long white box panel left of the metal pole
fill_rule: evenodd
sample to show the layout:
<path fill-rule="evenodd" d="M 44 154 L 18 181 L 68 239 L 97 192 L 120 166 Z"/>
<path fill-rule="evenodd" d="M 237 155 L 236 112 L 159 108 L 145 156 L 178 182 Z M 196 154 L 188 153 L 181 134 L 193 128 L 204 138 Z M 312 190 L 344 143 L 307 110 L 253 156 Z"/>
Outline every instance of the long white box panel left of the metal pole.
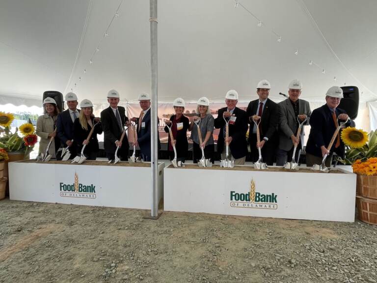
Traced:
<path fill-rule="evenodd" d="M 12 200 L 57 202 L 93 206 L 151 209 L 150 164 L 107 165 L 91 161 L 9 163 L 9 195 Z M 124 165 L 128 163 L 123 163 Z M 159 164 L 158 199 L 163 197 L 163 167 Z"/>

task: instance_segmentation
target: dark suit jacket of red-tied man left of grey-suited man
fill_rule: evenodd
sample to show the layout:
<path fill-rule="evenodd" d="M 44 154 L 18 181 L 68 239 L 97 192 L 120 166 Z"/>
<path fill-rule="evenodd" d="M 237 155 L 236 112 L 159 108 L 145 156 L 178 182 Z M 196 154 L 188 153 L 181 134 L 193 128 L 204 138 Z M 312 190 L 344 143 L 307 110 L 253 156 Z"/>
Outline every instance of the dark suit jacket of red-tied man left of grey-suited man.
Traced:
<path fill-rule="evenodd" d="M 251 141 L 251 135 L 253 133 L 254 122 L 249 121 L 249 117 L 252 115 L 256 115 L 258 109 L 259 99 L 250 101 L 249 105 L 246 109 L 247 115 L 247 122 L 250 124 L 249 128 L 249 142 Z M 265 108 L 262 113 L 262 121 L 261 121 L 261 141 L 264 137 L 269 139 L 268 142 L 265 143 L 264 147 L 275 147 L 278 142 L 278 134 L 277 134 L 277 125 L 279 121 L 279 106 L 270 100 L 269 98 L 266 101 Z M 253 145 L 254 146 L 254 145 Z"/>

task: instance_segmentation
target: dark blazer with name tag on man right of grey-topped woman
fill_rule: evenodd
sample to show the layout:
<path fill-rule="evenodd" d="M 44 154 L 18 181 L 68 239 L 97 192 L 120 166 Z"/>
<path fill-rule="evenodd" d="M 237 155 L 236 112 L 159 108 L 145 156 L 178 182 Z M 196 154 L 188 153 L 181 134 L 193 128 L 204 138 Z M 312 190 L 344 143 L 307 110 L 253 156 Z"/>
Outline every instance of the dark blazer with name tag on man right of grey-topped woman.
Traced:
<path fill-rule="evenodd" d="M 215 128 L 220 129 L 217 139 L 217 152 L 222 153 L 225 147 L 225 121 L 222 114 L 227 111 L 227 107 L 221 108 L 217 112 L 217 118 L 215 119 Z M 246 112 L 242 109 L 236 107 L 233 111 L 232 116 L 236 116 L 236 122 L 232 125 L 229 124 L 229 137 L 232 137 L 232 142 L 229 144 L 232 156 L 235 159 L 242 158 L 247 154 L 247 116 Z"/>

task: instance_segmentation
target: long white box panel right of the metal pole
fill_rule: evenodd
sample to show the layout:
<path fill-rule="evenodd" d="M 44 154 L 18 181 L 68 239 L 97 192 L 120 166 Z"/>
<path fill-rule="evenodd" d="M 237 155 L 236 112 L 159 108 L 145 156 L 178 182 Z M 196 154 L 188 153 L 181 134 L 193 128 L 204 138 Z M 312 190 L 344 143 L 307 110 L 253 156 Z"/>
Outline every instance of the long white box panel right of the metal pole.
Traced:
<path fill-rule="evenodd" d="M 242 168 L 242 170 L 240 170 Z M 164 210 L 353 222 L 356 175 L 247 167 L 164 169 Z"/>

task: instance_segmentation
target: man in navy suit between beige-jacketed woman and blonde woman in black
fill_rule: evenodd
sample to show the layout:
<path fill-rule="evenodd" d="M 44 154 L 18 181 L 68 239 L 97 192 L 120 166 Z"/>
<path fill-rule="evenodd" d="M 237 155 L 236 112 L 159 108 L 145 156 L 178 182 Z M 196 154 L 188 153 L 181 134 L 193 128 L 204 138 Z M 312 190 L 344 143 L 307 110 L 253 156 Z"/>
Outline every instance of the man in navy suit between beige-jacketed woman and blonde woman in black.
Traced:
<path fill-rule="evenodd" d="M 77 109 L 79 104 L 77 101 L 77 96 L 73 92 L 68 92 L 65 95 L 65 101 L 67 103 L 68 109 L 63 111 L 57 116 L 57 130 L 56 134 L 62 143 L 62 147 L 69 146 L 69 152 L 71 153 L 70 159 L 77 155 L 78 145 L 73 140 L 73 123 L 76 118 L 79 118 L 80 110 Z M 60 156 L 59 156 L 60 157 Z M 57 159 L 59 159 L 56 156 Z"/>

